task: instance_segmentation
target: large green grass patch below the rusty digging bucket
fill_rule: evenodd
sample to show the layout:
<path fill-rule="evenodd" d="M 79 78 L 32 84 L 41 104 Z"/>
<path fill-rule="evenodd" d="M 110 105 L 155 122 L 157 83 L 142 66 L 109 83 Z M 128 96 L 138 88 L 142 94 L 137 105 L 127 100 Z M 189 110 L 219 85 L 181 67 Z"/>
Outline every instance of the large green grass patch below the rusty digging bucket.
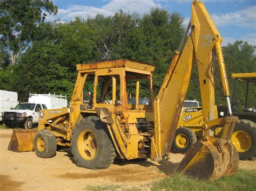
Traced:
<path fill-rule="evenodd" d="M 199 181 L 181 174 L 154 182 L 151 190 L 256 190 L 256 172 L 239 169 L 232 176 L 218 180 Z"/>

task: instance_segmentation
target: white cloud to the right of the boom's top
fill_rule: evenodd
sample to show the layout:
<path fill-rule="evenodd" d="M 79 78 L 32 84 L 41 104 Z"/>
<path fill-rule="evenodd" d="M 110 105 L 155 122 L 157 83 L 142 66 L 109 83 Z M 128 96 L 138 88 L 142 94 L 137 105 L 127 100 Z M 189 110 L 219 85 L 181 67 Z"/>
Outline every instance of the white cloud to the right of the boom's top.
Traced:
<path fill-rule="evenodd" d="M 217 26 L 235 25 L 256 29 L 256 6 L 226 14 L 215 13 L 212 19 Z"/>

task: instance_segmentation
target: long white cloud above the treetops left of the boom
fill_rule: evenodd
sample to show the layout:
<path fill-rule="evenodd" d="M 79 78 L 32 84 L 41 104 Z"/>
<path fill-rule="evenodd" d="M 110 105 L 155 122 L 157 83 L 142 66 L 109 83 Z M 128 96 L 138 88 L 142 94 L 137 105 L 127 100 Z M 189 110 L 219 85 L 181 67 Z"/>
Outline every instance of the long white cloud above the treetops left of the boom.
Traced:
<path fill-rule="evenodd" d="M 154 3 L 153 0 L 111 0 L 101 8 L 96 8 L 94 6 L 70 5 L 68 9 L 58 9 L 57 15 L 49 15 L 46 18 L 46 21 L 51 22 L 52 20 L 60 19 L 60 21 L 66 22 L 73 20 L 76 17 L 95 17 L 97 14 L 110 16 L 120 9 L 124 10 L 125 12 L 144 13 L 156 6 L 160 7 L 160 5 Z"/>

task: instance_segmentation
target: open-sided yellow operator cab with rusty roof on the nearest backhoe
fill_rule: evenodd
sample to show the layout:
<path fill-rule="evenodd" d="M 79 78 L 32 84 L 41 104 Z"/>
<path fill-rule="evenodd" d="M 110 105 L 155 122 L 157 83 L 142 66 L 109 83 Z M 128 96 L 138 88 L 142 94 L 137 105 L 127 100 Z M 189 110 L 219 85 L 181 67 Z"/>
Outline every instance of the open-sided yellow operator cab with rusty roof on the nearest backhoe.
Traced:
<path fill-rule="evenodd" d="M 83 83 L 83 90 L 79 90 L 82 97 L 74 98 L 82 101 L 80 110 L 83 111 L 114 109 L 118 105 L 126 111 L 152 111 L 154 69 L 152 65 L 130 60 L 79 64 L 81 79 L 77 83 Z"/>

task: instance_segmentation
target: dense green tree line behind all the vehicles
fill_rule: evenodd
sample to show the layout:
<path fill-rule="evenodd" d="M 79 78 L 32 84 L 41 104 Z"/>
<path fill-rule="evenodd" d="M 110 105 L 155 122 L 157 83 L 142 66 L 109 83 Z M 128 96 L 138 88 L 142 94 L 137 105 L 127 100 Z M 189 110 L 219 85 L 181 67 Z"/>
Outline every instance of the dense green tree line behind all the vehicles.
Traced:
<path fill-rule="evenodd" d="M 26 101 L 29 92 L 62 93 L 71 98 L 77 76 L 77 63 L 115 59 L 130 59 L 156 65 L 153 76 L 156 95 L 184 32 L 183 18 L 178 13 L 169 13 L 160 8 L 154 8 L 143 16 L 120 10 L 109 17 L 97 15 L 94 18 L 76 18 L 66 23 L 44 23 L 45 12 L 54 14 L 57 11 L 50 1 L 27 0 L 19 1 L 15 5 L 16 1 L 9 2 L 12 6 L 10 10 L 6 1 L 1 3 L 3 17 L 0 20 L 0 30 L 4 33 L 1 40 L 5 44 L 0 46 L 0 89 L 18 91 L 20 101 Z M 25 5 L 28 8 L 16 10 Z M 31 8 L 32 5 L 35 9 Z M 22 10 L 24 17 L 17 18 Z M 28 21 L 27 17 L 32 13 L 34 16 Z M 10 18 L 5 17 L 8 14 Z M 8 26 L 12 27 L 9 29 Z M 8 38 L 12 41 L 6 40 Z M 13 66 L 13 73 L 8 66 L 11 56 L 6 47 L 15 53 L 26 47 L 19 56 L 17 65 Z M 254 51 L 254 46 L 242 41 L 223 47 L 228 77 L 234 72 L 255 71 Z M 217 79 L 218 77 L 217 74 Z M 230 79 L 230 82 L 232 87 L 233 80 Z M 142 81 L 141 86 L 148 85 Z M 252 86 L 251 100 L 255 95 L 255 86 Z M 197 66 L 194 65 L 187 99 L 200 101 L 198 87 Z M 217 103 L 225 103 L 221 98 L 218 82 L 216 87 Z M 149 97 L 147 93 L 142 88 L 141 96 Z M 242 88 L 239 89 L 237 102 L 240 108 L 244 96 Z"/>

